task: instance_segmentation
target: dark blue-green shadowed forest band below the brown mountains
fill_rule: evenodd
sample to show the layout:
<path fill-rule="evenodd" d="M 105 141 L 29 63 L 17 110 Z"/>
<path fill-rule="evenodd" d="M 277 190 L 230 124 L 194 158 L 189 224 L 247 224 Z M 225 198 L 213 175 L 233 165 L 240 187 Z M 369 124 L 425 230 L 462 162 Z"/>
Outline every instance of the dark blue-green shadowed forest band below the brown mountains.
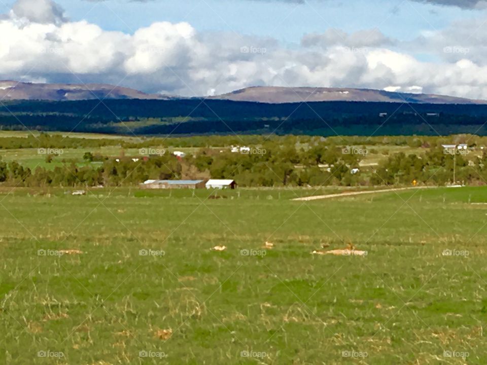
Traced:
<path fill-rule="evenodd" d="M 387 114 L 387 115 L 386 115 Z M 382 115 L 382 116 L 380 116 Z M 126 135 L 487 135 L 487 105 L 384 102 L 266 104 L 228 100 L 10 101 L 4 130 Z"/>

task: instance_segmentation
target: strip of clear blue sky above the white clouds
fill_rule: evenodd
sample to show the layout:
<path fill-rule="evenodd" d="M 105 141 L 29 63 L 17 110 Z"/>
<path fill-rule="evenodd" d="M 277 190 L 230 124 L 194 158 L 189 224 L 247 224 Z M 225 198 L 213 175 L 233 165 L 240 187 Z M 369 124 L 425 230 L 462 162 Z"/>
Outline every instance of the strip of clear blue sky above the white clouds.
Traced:
<path fill-rule="evenodd" d="M 13 2 L 11 2 L 13 3 Z M 236 31 L 299 42 L 305 33 L 329 27 L 345 31 L 378 27 L 398 40 L 441 29 L 478 10 L 412 3 L 402 0 L 310 0 L 306 4 L 252 0 L 58 0 L 72 20 L 86 19 L 106 30 L 133 32 L 157 21 L 186 21 L 198 31 Z"/>

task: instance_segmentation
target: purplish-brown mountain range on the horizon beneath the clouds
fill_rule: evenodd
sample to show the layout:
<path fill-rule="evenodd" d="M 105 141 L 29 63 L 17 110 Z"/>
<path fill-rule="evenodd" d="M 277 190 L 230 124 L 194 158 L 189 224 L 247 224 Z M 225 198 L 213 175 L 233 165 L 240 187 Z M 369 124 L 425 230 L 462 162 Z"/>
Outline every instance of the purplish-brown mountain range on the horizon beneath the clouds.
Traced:
<path fill-rule="evenodd" d="M 89 100 L 89 99 L 188 99 L 179 96 L 148 94 L 142 91 L 107 84 L 41 84 L 0 81 L 0 100 Z M 317 101 L 398 102 L 412 104 L 487 104 L 474 100 L 435 94 L 400 93 L 356 88 L 268 87 L 257 86 L 206 99 L 250 101 L 260 103 L 294 103 Z"/>

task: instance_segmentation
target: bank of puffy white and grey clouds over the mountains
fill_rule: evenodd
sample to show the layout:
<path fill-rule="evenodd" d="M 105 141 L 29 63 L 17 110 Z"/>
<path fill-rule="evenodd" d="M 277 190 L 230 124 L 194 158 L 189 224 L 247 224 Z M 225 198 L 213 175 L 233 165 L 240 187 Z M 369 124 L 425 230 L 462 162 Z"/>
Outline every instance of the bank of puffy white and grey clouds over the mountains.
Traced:
<path fill-rule="evenodd" d="M 200 33 L 156 22 L 133 34 L 69 21 L 51 0 L 18 0 L 0 19 L 0 78 L 110 83 L 186 96 L 247 86 L 365 87 L 487 99 L 482 23 L 454 24 L 410 44 L 378 30 L 306 34 L 296 48 L 274 39 Z M 436 59 L 416 59 L 415 52 Z"/>

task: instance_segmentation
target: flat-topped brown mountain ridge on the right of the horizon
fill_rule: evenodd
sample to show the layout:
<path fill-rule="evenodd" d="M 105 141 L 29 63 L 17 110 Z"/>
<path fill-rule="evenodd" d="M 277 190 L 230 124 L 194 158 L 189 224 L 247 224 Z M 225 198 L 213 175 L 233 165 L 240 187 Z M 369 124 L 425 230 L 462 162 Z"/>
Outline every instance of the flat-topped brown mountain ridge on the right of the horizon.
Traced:
<path fill-rule="evenodd" d="M 473 100 L 435 94 L 412 94 L 385 90 L 354 88 L 270 87 L 257 86 L 212 96 L 212 99 L 254 101 L 270 104 L 311 101 L 366 101 L 413 104 L 486 104 L 487 100 Z"/>

